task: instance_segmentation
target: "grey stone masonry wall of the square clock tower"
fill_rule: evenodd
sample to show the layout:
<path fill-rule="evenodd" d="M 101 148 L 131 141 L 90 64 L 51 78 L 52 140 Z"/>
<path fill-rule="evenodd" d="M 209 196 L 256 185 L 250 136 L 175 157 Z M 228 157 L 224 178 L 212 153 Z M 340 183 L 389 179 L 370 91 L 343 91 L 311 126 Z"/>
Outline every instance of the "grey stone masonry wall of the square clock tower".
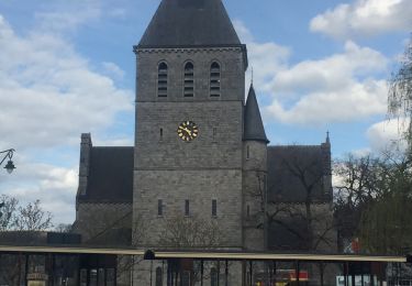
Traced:
<path fill-rule="evenodd" d="M 157 245 L 167 220 L 216 224 L 219 248 L 242 248 L 242 132 L 244 69 L 241 48 L 137 50 L 134 226 L 149 222 L 138 245 Z M 183 97 L 183 66 L 194 66 L 194 96 Z M 168 65 L 168 92 L 157 97 L 158 64 Z M 221 65 L 221 96 L 210 97 L 210 67 Z M 183 142 L 182 121 L 199 136 Z M 164 213 L 158 216 L 158 200 Z M 218 216 L 212 216 L 212 200 Z M 167 245 L 165 245 L 167 246 Z"/>

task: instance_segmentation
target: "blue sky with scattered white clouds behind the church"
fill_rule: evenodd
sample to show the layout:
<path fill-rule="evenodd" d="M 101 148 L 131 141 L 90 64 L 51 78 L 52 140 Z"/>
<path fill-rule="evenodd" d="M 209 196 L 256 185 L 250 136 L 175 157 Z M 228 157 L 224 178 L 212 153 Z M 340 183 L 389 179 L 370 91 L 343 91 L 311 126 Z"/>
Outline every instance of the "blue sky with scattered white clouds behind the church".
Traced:
<path fill-rule="evenodd" d="M 410 0 L 223 0 L 243 43 L 271 145 L 332 155 L 379 152 L 398 138 L 388 79 L 412 32 Z M 135 55 L 159 0 L 0 0 L 0 195 L 40 199 L 75 220 L 80 134 L 133 145 Z M 3 167 L 3 166 L 2 166 Z"/>

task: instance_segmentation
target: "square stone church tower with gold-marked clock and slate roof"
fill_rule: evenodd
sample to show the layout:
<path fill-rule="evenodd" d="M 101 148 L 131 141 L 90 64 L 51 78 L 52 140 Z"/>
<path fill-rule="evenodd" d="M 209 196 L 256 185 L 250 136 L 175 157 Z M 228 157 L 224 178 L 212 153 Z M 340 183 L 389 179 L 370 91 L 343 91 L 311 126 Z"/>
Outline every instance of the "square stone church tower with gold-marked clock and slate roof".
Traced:
<path fill-rule="evenodd" d="M 134 52 L 134 244 L 243 249 L 247 54 L 222 1 L 163 0 Z M 179 220 L 221 231 L 176 245 Z"/>

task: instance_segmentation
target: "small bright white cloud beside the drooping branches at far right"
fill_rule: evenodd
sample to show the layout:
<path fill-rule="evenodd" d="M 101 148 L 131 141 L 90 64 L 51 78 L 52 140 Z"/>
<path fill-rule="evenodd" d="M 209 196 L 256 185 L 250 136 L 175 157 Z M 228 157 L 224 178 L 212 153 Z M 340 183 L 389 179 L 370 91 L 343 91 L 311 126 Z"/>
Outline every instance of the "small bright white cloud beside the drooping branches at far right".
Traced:
<path fill-rule="evenodd" d="M 405 131 L 409 120 L 386 120 L 372 124 L 366 132 L 369 145 L 374 151 L 382 152 L 396 144 Z M 401 144 L 404 148 L 404 142 Z"/>

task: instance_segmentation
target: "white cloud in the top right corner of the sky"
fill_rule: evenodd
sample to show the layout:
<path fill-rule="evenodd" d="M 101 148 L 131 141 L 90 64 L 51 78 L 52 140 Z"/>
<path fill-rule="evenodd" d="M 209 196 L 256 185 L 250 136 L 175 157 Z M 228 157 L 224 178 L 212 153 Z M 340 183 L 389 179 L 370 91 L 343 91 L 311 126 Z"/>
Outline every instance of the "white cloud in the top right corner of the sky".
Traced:
<path fill-rule="evenodd" d="M 311 20 L 310 29 L 335 38 L 371 36 L 393 31 L 409 31 L 412 26 L 410 0 L 355 0 Z"/>

